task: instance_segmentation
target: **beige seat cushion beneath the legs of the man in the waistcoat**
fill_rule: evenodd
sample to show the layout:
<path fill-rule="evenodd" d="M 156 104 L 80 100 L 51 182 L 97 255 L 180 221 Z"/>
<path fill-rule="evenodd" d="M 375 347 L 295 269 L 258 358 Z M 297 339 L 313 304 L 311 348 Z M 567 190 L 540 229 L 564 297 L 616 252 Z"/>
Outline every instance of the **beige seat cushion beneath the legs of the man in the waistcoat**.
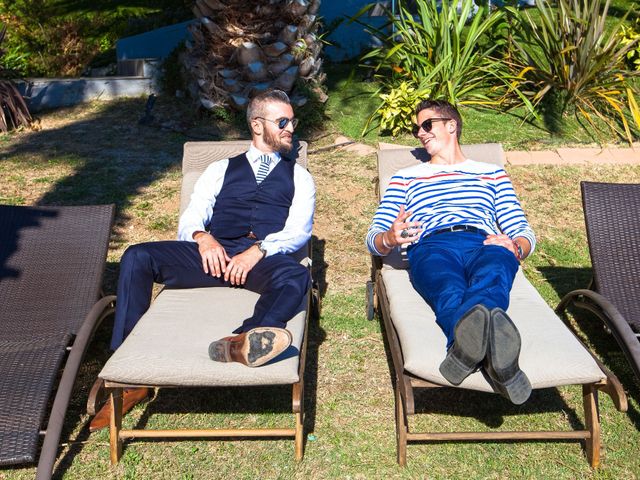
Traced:
<path fill-rule="evenodd" d="M 154 386 L 295 383 L 306 297 L 300 313 L 287 324 L 293 335 L 292 347 L 283 354 L 288 358 L 259 368 L 209 359 L 209 344 L 232 335 L 251 316 L 257 299 L 257 294 L 235 288 L 165 289 L 99 376 L 118 383 Z"/>

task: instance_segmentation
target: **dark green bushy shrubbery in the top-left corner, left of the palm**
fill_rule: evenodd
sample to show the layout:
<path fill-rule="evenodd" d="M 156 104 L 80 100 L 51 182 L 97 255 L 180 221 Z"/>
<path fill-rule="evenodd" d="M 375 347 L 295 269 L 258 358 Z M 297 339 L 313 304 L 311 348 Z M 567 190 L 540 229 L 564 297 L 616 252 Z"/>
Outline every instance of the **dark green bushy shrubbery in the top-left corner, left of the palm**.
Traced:
<path fill-rule="evenodd" d="M 115 62 L 118 38 L 193 16 L 184 0 L 131 3 L 0 1 L 0 22 L 11 32 L 5 48 L 13 67 L 28 76 L 77 76 L 89 65 Z"/>

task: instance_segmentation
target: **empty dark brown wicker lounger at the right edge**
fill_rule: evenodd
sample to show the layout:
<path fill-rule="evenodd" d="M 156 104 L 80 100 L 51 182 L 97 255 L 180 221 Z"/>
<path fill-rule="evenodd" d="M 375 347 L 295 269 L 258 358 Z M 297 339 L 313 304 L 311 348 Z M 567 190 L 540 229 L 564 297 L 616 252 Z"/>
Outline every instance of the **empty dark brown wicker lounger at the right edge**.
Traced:
<path fill-rule="evenodd" d="M 556 311 L 574 305 L 600 318 L 640 382 L 640 185 L 580 186 L 593 280 L 568 293 Z"/>

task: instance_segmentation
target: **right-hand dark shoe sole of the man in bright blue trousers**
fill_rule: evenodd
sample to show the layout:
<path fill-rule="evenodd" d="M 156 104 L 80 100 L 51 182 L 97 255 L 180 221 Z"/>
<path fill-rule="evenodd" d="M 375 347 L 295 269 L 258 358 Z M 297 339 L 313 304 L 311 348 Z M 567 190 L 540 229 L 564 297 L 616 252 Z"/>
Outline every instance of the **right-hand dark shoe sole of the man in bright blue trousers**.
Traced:
<path fill-rule="evenodd" d="M 513 321 L 502 310 L 494 310 L 491 315 L 493 323 L 493 343 L 491 349 L 491 363 L 494 375 L 491 377 L 496 383 L 499 392 L 512 403 L 521 405 L 531 395 L 531 382 L 527 375 L 520 370 L 518 358 L 522 344 L 520 332 Z M 501 372 L 515 368 L 515 374 L 510 378 L 504 378 Z"/>

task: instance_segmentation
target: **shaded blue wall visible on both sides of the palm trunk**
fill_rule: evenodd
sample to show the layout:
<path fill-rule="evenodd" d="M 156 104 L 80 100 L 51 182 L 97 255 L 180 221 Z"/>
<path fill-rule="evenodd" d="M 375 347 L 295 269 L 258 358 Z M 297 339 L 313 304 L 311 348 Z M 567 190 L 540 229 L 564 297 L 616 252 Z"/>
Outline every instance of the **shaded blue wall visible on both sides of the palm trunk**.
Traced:
<path fill-rule="evenodd" d="M 319 15 L 323 18 L 325 25 L 341 21 L 338 28 L 327 37 L 331 45 L 324 46 L 325 56 L 335 61 L 347 60 L 357 57 L 363 49 L 371 45 L 371 35 L 364 31 L 364 27 L 348 22 L 349 17 L 369 3 L 373 3 L 372 0 L 322 0 Z M 363 16 L 362 20 L 378 27 L 384 24 L 382 17 Z M 187 25 L 193 21 L 195 20 L 118 40 L 116 43 L 118 60 L 165 58 L 180 42 L 188 38 Z"/>

